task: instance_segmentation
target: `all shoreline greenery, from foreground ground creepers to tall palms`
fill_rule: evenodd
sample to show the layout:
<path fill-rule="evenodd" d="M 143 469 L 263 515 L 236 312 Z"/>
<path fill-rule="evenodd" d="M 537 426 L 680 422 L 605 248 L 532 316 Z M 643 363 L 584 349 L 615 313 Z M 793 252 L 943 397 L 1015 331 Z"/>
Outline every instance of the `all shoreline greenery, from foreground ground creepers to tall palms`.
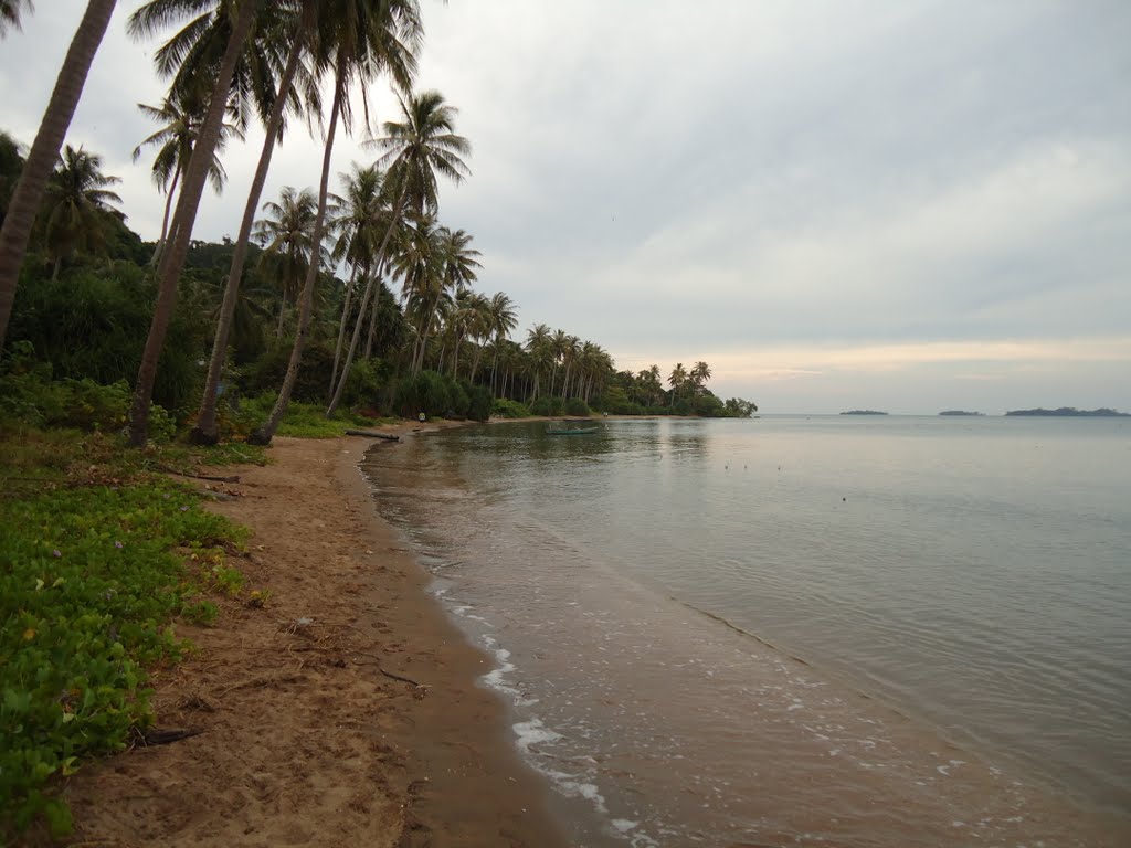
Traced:
<path fill-rule="evenodd" d="M 440 189 L 470 176 L 458 110 L 414 83 L 416 0 L 150 2 L 159 103 L 137 140 L 164 197 L 156 241 L 129 226 L 100 152 L 69 144 L 116 3 L 89 0 L 33 139 L 0 131 L 0 841 L 63 838 L 59 789 L 93 756 L 145 739 L 149 669 L 191 649 L 175 623 L 269 592 L 241 573 L 245 530 L 201 507 L 201 475 L 262 464 L 277 434 L 338 435 L 390 417 L 750 416 L 705 362 L 618 370 L 601 345 L 477 288 Z M 0 38 L 28 0 L 0 0 Z M 396 120 L 366 126 L 377 85 Z M 310 188 L 265 197 L 279 138 L 325 131 Z M 224 152 L 264 140 L 240 231 L 193 237 Z M 335 139 L 371 138 L 339 173 Z M 219 467 L 221 470 L 214 470 Z"/>

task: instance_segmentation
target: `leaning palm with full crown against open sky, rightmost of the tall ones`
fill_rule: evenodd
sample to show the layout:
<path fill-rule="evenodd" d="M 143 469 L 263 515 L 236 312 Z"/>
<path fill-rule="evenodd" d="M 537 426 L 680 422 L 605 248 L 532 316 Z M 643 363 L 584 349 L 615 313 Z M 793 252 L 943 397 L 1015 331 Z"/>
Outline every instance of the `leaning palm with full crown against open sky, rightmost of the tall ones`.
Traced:
<path fill-rule="evenodd" d="M 386 121 L 385 137 L 374 141 L 377 147 L 385 150 L 378 164 L 388 168 L 389 178 L 397 187 L 389 231 L 378 249 L 377 267 L 385 261 L 385 251 L 398 226 L 402 211 L 407 208 L 416 217 L 434 213 L 439 205 L 439 175 L 459 184 L 470 173 L 461 158 L 470 152 L 470 145 L 466 138 L 455 132 L 458 110 L 446 104 L 439 92 L 423 92 L 407 99 L 398 99 L 404 120 Z M 354 332 L 356 335 L 357 330 Z M 421 351 L 420 362 L 423 363 L 426 339 L 417 339 L 417 344 Z M 328 415 L 333 415 L 342 400 L 351 363 L 352 357 L 347 356 L 334 399 L 327 409 Z M 413 371 L 418 371 L 415 360 Z"/>

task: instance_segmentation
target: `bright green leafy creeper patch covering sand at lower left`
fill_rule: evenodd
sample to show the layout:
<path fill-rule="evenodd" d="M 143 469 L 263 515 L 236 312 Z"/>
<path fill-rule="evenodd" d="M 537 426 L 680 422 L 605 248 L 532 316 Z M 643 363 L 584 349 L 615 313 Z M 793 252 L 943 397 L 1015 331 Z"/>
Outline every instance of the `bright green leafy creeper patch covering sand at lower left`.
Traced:
<path fill-rule="evenodd" d="M 67 831 L 53 779 L 152 722 L 145 669 L 188 648 L 172 620 L 214 616 L 179 551 L 227 569 L 243 536 L 161 478 L 0 501 L 0 839 Z"/>

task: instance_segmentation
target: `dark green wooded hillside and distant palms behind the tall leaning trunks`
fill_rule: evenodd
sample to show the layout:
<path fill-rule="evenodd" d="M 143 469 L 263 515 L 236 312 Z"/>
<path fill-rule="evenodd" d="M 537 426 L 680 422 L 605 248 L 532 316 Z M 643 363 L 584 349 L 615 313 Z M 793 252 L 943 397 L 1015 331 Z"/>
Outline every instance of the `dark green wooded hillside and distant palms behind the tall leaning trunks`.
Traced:
<path fill-rule="evenodd" d="M 0 215 L 19 178 L 21 152 L 0 132 Z M 363 250 L 383 235 L 372 224 L 388 214 L 374 197 L 378 179 L 375 168 L 343 175 L 328 206 L 293 401 L 334 414 L 325 410 L 357 335 L 339 398 L 351 421 L 420 412 L 486 421 L 592 412 L 749 417 L 757 410 L 741 398 L 716 397 L 707 388 L 707 363 L 676 364 L 665 379 L 655 365 L 618 371 L 599 345 L 545 323 L 513 339 L 515 303 L 504 293 L 473 287 L 480 263 L 470 236 L 431 216 L 402 226 L 385 274 L 374 274 L 373 257 Z M 97 154 L 70 147 L 50 178 L 0 361 L 6 415 L 52 423 L 55 414 L 43 408 L 49 401 L 36 400 L 33 381 L 45 393 L 74 381 L 86 392 L 102 387 L 106 403 L 116 398 L 119 406 L 135 389 L 162 245 L 130 230 L 116 194 L 106 189 L 116 182 L 103 173 Z M 256 219 L 217 381 L 219 439 L 253 433 L 286 377 L 317 202 L 310 189 L 286 188 Z M 235 246 L 231 237 L 188 242 L 152 391 L 163 425 L 150 436 L 188 432 L 196 423 Z M 124 426 L 128 405 L 114 412 L 100 425 Z"/>

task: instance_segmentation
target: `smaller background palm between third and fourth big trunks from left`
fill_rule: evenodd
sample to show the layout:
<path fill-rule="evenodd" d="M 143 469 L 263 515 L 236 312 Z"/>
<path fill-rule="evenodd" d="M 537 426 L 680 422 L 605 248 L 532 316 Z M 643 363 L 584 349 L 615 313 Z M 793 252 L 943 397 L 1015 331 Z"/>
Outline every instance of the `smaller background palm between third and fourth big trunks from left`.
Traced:
<path fill-rule="evenodd" d="M 267 217 L 256 222 L 254 237 L 264 245 L 259 261 L 273 267 L 280 289 L 278 327 L 275 337 L 283 336 L 287 296 L 297 296 L 299 286 L 307 277 L 314 244 L 314 216 L 318 201 L 310 189 L 296 191 L 284 185 L 279 202 L 264 204 Z"/>

